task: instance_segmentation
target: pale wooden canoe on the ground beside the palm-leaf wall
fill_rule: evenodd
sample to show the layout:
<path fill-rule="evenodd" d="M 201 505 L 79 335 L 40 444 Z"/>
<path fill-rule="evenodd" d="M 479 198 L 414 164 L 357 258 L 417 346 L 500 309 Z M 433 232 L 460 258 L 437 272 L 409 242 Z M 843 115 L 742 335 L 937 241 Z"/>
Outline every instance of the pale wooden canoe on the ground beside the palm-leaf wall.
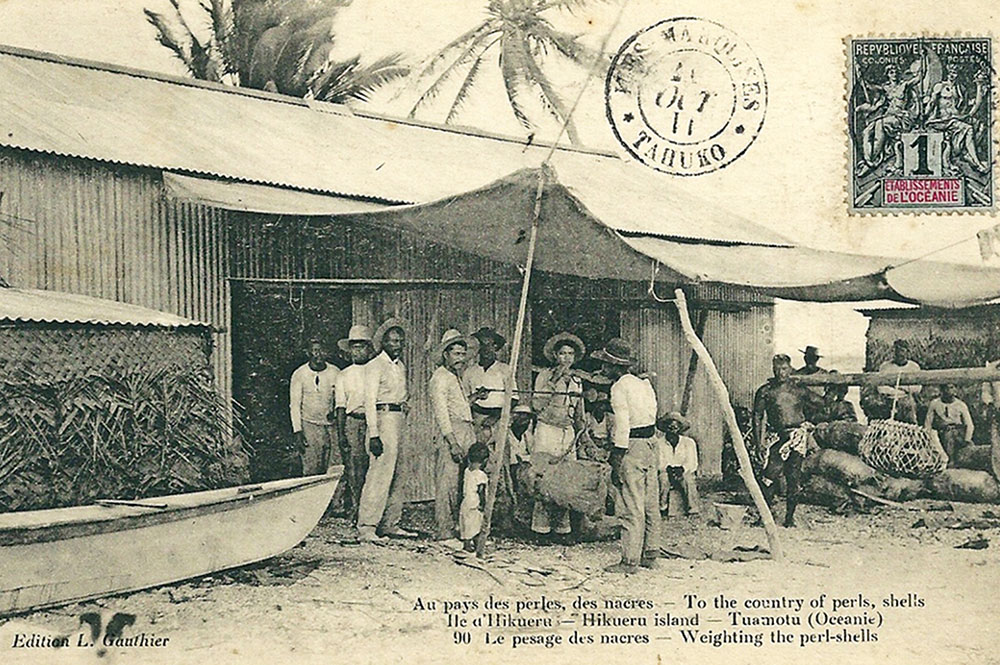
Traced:
<path fill-rule="evenodd" d="M 342 473 L 0 514 L 0 616 L 281 554 L 313 530 Z"/>

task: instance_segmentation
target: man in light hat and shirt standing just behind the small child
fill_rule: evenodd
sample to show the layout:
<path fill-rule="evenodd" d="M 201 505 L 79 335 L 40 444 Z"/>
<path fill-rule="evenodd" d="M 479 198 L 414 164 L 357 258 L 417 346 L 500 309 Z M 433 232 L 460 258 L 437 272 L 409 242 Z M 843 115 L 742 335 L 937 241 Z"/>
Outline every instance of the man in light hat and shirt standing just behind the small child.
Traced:
<path fill-rule="evenodd" d="M 441 433 L 434 458 L 434 521 L 438 540 L 456 537 L 458 486 L 469 447 L 475 443 L 472 408 L 462 383 L 469 342 L 454 328 L 446 330 L 434 350 L 440 366 L 430 381 L 434 420 Z"/>

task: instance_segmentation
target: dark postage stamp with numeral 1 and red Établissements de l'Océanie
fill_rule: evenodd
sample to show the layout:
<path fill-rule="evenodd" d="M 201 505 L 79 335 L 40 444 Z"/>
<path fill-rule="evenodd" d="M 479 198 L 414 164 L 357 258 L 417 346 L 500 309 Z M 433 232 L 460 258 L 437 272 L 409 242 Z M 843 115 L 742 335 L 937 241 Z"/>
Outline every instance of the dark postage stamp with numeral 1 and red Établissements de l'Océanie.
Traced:
<path fill-rule="evenodd" d="M 993 208 L 990 38 L 850 38 L 847 46 L 850 211 Z"/>

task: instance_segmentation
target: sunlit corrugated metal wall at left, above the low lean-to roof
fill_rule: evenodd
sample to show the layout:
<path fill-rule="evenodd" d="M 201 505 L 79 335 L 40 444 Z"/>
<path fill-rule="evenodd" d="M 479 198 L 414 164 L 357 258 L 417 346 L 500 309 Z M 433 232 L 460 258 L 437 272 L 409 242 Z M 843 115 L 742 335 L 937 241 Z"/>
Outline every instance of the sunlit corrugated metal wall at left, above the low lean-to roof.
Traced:
<path fill-rule="evenodd" d="M 129 302 L 228 330 L 225 215 L 167 201 L 162 190 L 158 171 L 0 149 L 8 226 L 0 275 L 12 286 Z M 228 396 L 228 332 L 213 341 Z"/>

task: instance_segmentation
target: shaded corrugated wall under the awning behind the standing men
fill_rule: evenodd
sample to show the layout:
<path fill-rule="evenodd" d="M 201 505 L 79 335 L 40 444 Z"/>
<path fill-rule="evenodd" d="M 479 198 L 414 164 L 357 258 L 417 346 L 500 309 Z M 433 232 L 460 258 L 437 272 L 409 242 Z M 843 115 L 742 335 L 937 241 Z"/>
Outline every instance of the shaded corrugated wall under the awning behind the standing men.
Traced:
<path fill-rule="evenodd" d="M 306 218 L 236 215 L 230 233 L 233 276 L 240 279 L 398 280 L 396 284 L 327 284 L 352 294 L 352 319 L 375 328 L 395 316 L 406 322 L 403 362 L 411 393 L 407 449 L 402 455 L 404 500 L 434 496 L 437 428 L 427 384 L 436 367 L 431 350 L 448 328 L 491 325 L 513 338 L 519 283 L 511 268 L 434 245 L 394 229 Z M 415 284 L 407 280 L 441 280 Z M 468 280 L 465 284 L 448 284 Z M 523 384 L 530 372 L 530 322 L 521 352 Z M 337 334 L 346 334 L 346 330 Z M 501 357 L 506 358 L 509 349 Z"/>

